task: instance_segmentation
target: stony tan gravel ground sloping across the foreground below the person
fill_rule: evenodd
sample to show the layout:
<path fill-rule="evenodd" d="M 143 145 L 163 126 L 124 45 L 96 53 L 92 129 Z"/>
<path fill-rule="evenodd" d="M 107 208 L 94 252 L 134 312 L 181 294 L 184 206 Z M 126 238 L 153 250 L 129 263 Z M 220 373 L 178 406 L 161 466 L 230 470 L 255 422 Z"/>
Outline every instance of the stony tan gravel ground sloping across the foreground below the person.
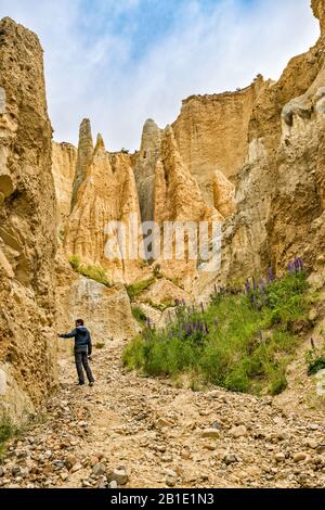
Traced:
<path fill-rule="evenodd" d="M 48 420 L 9 445 L 0 487 L 324 487 L 321 417 L 125 373 L 123 345 L 94 353 L 93 388 L 61 361 Z"/>

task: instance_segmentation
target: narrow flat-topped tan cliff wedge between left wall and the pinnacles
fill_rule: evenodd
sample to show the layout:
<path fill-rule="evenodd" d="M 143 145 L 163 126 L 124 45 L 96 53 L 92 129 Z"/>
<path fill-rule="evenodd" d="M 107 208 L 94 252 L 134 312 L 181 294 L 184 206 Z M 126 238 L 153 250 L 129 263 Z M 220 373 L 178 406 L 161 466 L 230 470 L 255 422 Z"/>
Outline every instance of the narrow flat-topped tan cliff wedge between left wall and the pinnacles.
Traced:
<path fill-rule="evenodd" d="M 52 174 L 55 184 L 60 228 L 64 227 L 70 214 L 77 154 L 77 149 L 70 143 L 53 142 Z"/>

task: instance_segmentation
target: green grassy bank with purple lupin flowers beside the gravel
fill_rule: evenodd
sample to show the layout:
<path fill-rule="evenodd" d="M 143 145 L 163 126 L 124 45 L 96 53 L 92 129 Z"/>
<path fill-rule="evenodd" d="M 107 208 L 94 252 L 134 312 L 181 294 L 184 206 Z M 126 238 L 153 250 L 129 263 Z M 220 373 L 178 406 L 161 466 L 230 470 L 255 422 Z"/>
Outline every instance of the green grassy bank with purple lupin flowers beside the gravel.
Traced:
<path fill-rule="evenodd" d="M 188 374 L 230 391 L 272 395 L 287 385 L 286 367 L 309 328 L 309 285 L 302 270 L 282 280 L 216 293 L 205 309 L 178 304 L 164 330 L 150 324 L 123 353 L 125 366 L 145 375 Z"/>

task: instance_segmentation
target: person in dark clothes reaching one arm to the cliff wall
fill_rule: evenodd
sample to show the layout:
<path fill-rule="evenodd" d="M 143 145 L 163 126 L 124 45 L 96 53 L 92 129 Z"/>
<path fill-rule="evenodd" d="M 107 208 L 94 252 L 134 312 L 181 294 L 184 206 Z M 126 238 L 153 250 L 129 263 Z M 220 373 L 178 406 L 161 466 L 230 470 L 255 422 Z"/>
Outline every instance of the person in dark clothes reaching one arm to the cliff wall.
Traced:
<path fill-rule="evenodd" d="M 91 373 L 91 369 L 88 362 L 88 357 L 91 356 L 92 345 L 91 345 L 91 336 L 90 332 L 87 328 L 84 328 L 84 322 L 82 319 L 76 320 L 76 329 L 68 334 L 60 334 L 60 339 L 75 339 L 75 359 L 76 359 L 76 368 L 79 378 L 79 386 L 83 386 L 84 384 L 84 374 L 82 370 L 82 366 L 86 370 L 89 385 L 93 386 L 94 379 Z"/>

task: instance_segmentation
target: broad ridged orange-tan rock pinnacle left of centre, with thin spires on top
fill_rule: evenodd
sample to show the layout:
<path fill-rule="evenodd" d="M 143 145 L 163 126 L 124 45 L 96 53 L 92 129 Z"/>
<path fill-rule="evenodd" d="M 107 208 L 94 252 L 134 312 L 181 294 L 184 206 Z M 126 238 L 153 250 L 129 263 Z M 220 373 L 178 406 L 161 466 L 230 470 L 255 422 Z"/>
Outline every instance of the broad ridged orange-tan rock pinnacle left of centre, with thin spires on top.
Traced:
<path fill-rule="evenodd" d="M 129 282 L 140 273 L 138 256 L 125 260 L 121 257 L 123 241 L 116 243 L 107 256 L 107 241 L 110 221 L 121 221 L 126 226 L 126 246 L 129 246 L 129 228 L 131 218 L 140 226 L 140 208 L 131 157 L 128 154 L 109 154 L 106 152 L 102 137 L 99 136 L 92 157 L 83 148 L 91 146 L 90 126 L 80 133 L 86 137 L 79 142 L 78 163 L 74 183 L 73 211 L 69 216 L 65 237 L 65 248 L 68 254 L 77 254 L 82 262 L 99 264 L 107 269 L 114 282 Z M 80 146 L 82 148 L 80 152 Z M 81 170 L 80 170 L 81 169 Z M 77 190 L 77 191 L 76 191 Z M 139 227 L 138 227 L 139 228 Z"/>

